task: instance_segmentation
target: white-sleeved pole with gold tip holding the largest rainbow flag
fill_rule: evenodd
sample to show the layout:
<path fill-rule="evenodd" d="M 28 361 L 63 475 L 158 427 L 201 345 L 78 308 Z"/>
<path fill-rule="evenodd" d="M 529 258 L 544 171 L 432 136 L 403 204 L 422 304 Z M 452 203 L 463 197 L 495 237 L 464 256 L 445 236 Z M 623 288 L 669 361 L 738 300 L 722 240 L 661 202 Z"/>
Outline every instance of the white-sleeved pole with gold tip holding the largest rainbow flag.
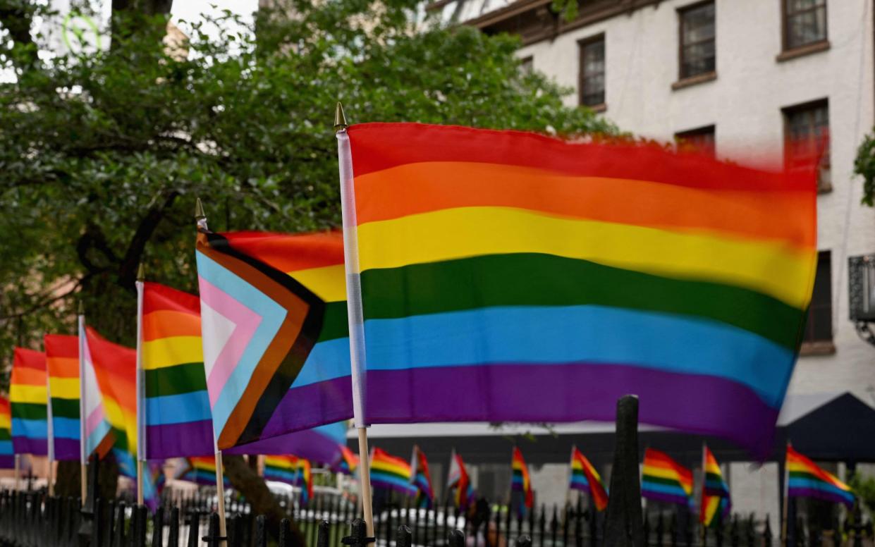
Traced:
<path fill-rule="evenodd" d="M 334 111 L 334 131 L 337 135 L 337 153 L 340 174 L 340 211 L 343 214 L 343 254 L 346 267 L 346 313 L 349 319 L 349 361 L 353 379 L 353 419 L 359 433 L 359 455 L 367 450 L 367 420 L 365 418 L 365 319 L 361 310 L 361 277 L 359 270 L 359 242 L 356 233 L 355 192 L 353 188 L 353 154 L 346 135 L 346 116 L 337 103 Z M 367 523 L 367 536 L 374 536 L 374 509 L 371 507 L 370 466 L 360 466 L 359 482 L 361 507 Z"/>

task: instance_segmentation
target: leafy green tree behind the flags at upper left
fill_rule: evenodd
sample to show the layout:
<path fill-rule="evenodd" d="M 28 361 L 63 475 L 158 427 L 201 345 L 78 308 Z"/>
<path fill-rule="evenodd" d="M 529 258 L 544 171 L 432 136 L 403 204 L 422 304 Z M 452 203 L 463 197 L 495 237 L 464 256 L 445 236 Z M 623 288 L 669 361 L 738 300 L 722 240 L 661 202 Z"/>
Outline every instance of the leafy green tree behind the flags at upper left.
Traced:
<path fill-rule="evenodd" d="M 228 31 L 226 14 L 212 38 L 193 27 L 185 59 L 158 40 L 166 0 L 115 0 L 109 51 L 50 60 L 34 54 L 38 4 L 0 4 L 0 65 L 16 75 L 0 84 L 7 369 L 13 343 L 74 332 L 75 299 L 132 345 L 139 263 L 194 291 L 195 196 L 215 230 L 339 226 L 337 100 L 353 123 L 617 133 L 564 106 L 570 90 L 523 74 L 516 39 L 416 21 L 414 0 L 291 0 L 249 32 Z M 261 499 L 240 467 L 228 469 L 235 487 Z"/>

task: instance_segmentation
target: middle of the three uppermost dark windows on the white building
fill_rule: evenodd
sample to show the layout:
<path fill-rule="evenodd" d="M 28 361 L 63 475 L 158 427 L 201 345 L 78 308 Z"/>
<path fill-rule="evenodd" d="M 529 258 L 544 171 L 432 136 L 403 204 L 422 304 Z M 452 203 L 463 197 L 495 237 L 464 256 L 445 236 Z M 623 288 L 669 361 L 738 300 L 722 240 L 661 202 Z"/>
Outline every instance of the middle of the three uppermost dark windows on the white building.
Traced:
<path fill-rule="evenodd" d="M 696 4 L 678 12 L 681 19 L 681 79 L 714 72 L 717 57 L 714 3 Z"/>

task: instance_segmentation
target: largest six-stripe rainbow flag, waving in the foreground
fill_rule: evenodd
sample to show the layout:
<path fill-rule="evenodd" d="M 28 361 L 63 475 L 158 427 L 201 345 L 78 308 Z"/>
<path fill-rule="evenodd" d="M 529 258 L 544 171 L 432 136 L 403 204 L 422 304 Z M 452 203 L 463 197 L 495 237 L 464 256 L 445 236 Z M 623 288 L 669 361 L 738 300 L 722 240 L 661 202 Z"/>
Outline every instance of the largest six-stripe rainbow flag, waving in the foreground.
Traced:
<path fill-rule="evenodd" d="M 362 419 L 613 421 L 635 393 L 643 423 L 771 448 L 814 281 L 813 170 L 418 123 L 339 146 Z"/>

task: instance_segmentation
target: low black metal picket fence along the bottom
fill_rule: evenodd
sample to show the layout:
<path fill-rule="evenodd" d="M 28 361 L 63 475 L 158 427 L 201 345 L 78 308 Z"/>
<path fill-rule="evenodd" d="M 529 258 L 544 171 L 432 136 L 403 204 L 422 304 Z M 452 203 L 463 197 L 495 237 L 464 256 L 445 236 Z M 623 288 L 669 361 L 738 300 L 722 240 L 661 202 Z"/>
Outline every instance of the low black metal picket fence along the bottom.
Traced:
<path fill-rule="evenodd" d="M 170 502 L 173 505 L 170 505 Z M 78 499 L 49 497 L 41 492 L 0 493 L 0 544 L 14 547 L 195 547 L 218 545 L 215 496 L 194 495 L 165 500 L 151 514 L 144 506 L 125 501 L 98 500 L 93 508 L 81 508 Z M 308 546 L 328 547 L 355 543 L 353 522 L 358 515 L 352 503 L 338 496 L 317 496 L 310 507 L 281 499 L 291 519 L 279 529 L 279 543 L 268 543 L 267 523 L 253 515 L 245 501 L 228 500 L 228 547 L 279 547 L 297 545 L 291 533 L 292 520 Z M 508 511 L 507 506 L 480 502 L 470 518 L 444 505 L 414 508 L 390 505 L 374 515 L 378 547 L 405 545 L 435 547 L 603 547 L 604 513 L 576 503 L 551 508 L 541 506 L 527 515 Z M 83 516 L 84 515 L 84 516 Z M 858 518 L 856 522 L 860 522 Z M 844 522 L 826 531 L 796 524 L 788 542 L 795 546 L 863 546 L 872 544 L 872 524 Z M 645 519 L 645 544 L 654 547 L 709 546 L 762 547 L 779 545 L 768 520 L 757 522 L 733 516 L 724 526 L 703 530 L 678 521 L 676 514 L 651 514 Z M 89 539 L 90 538 L 90 539 Z M 361 539 L 361 538 L 360 538 Z M 350 543 L 353 542 L 353 543 Z M 459 543 L 460 542 L 460 543 Z M 704 542 L 704 543 L 703 543 Z M 364 545 L 362 544 L 362 547 Z M 607 547 L 607 546 L 605 546 Z"/>

